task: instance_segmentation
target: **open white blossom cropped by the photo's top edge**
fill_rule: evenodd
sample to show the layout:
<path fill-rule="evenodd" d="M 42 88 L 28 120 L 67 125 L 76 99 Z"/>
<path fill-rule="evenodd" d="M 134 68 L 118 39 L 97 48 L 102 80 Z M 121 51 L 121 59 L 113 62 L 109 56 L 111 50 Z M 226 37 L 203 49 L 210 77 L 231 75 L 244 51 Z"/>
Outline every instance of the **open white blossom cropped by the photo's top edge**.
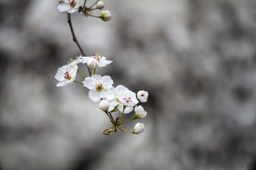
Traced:
<path fill-rule="evenodd" d="M 67 11 L 68 13 L 74 13 L 82 5 L 83 0 L 63 0 L 58 9 L 60 12 Z"/>

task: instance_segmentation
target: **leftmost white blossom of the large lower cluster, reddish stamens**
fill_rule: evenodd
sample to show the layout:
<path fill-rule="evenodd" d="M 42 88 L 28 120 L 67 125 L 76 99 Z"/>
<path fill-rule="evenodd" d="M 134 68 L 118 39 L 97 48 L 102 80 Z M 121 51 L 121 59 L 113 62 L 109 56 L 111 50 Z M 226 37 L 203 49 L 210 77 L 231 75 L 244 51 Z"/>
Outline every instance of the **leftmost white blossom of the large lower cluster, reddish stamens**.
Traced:
<path fill-rule="evenodd" d="M 76 76 L 77 65 L 73 67 L 70 66 L 63 66 L 58 69 L 55 78 L 60 82 L 57 84 L 57 87 L 64 87 L 67 83 L 72 83 Z"/>

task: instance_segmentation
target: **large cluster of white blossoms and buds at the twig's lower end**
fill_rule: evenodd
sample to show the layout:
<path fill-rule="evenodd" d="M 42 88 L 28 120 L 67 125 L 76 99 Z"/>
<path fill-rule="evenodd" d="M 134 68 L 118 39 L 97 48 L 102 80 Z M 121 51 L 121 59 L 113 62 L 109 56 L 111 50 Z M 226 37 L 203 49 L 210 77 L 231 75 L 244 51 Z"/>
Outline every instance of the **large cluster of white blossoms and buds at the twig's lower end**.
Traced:
<path fill-rule="evenodd" d="M 117 132 L 119 128 L 122 132 L 126 131 L 133 134 L 139 134 L 143 132 L 144 125 L 137 123 L 133 131 L 128 131 L 121 127 L 122 124 L 129 121 L 144 118 L 146 111 L 139 105 L 138 102 L 147 102 L 148 93 L 146 91 L 139 91 L 136 93 L 130 91 L 123 85 L 113 87 L 113 80 L 110 76 L 101 76 L 95 74 L 97 67 L 105 67 L 112 61 L 107 60 L 106 57 L 96 53 L 91 57 L 76 57 L 76 59 L 70 59 L 67 65 L 58 68 L 55 78 L 59 81 L 57 86 L 64 87 L 65 85 L 76 82 L 82 84 L 84 87 L 89 89 L 89 98 L 93 102 L 100 102 L 99 108 L 106 113 L 109 117 L 112 126 L 102 130 L 104 135 L 109 135 L 113 131 Z M 82 72 L 78 69 L 79 64 L 87 64 L 87 67 L 91 70 L 90 76 L 85 77 Z M 76 73 L 79 72 L 84 78 L 84 81 L 75 81 Z M 134 117 L 130 120 L 122 120 L 123 114 L 130 113 L 134 108 Z M 114 119 L 112 116 L 113 112 L 120 111 L 121 115 Z"/>

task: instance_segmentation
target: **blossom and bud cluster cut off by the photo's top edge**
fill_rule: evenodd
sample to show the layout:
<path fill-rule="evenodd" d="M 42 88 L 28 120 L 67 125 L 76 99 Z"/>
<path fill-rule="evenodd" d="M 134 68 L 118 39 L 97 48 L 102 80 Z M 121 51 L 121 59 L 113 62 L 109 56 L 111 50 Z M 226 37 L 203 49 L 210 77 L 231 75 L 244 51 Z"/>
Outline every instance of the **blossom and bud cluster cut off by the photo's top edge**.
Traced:
<path fill-rule="evenodd" d="M 77 10 L 82 12 L 85 17 L 98 17 L 101 18 L 103 21 L 109 21 L 112 17 L 110 11 L 103 10 L 100 16 L 93 16 L 91 11 L 95 9 L 103 9 L 105 7 L 104 2 L 101 0 L 96 0 L 90 7 L 86 7 L 86 0 L 59 0 L 58 10 L 60 12 L 67 11 L 68 13 L 74 13 Z M 96 5 L 96 7 L 94 7 Z"/>

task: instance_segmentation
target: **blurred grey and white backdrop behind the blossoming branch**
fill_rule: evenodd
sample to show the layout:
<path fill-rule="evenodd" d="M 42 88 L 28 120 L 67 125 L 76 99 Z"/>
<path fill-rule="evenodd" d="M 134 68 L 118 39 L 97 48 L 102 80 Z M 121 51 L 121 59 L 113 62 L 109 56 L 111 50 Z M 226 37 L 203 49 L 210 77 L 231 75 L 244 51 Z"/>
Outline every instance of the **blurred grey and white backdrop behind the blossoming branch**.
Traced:
<path fill-rule="evenodd" d="M 98 74 L 149 92 L 123 126 L 145 131 L 104 136 L 88 89 L 56 87 L 81 55 L 57 0 L 0 0 L 0 170 L 255 170 L 256 1 L 103 1 L 112 19 L 72 14 L 74 32 L 113 60 Z"/>

